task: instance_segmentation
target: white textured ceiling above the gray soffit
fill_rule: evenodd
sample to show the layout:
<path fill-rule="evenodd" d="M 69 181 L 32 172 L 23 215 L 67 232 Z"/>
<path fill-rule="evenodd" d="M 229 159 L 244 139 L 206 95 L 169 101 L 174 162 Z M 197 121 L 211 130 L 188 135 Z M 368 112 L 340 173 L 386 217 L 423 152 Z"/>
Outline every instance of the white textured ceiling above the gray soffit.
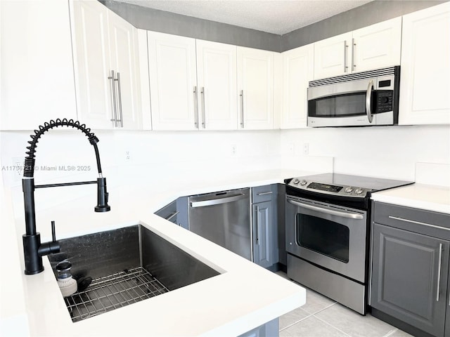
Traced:
<path fill-rule="evenodd" d="M 114 0 L 283 35 L 372 0 Z"/>

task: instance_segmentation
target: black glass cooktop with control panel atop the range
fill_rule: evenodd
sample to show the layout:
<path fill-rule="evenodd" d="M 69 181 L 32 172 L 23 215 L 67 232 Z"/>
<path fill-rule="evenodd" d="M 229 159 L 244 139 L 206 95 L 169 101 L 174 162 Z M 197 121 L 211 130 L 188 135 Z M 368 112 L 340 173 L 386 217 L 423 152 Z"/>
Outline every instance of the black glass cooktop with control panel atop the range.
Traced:
<path fill-rule="evenodd" d="M 286 180 L 286 184 L 299 190 L 365 198 L 371 192 L 412 184 L 410 181 L 349 176 L 340 173 L 323 173 Z"/>

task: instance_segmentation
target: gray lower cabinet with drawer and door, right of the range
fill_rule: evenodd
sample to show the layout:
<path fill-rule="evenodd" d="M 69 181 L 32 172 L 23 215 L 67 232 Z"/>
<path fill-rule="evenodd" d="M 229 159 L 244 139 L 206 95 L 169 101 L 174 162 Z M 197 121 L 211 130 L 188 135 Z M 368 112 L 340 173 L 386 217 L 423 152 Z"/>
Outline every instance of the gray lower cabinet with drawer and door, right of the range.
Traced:
<path fill-rule="evenodd" d="M 415 336 L 449 336 L 450 216 L 374 205 L 373 315 Z"/>

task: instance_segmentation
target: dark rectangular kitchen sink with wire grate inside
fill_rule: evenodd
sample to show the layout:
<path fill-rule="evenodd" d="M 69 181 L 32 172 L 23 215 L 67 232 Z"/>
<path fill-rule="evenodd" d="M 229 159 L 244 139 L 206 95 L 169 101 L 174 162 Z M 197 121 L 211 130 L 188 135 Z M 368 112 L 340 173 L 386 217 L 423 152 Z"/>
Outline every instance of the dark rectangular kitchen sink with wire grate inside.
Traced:
<path fill-rule="evenodd" d="M 220 274 L 142 225 L 59 243 L 60 253 L 49 255 L 53 272 L 58 275 L 56 265 L 69 260 L 79 284 L 79 291 L 64 298 L 72 322 Z M 86 283 L 89 286 L 82 289 Z"/>

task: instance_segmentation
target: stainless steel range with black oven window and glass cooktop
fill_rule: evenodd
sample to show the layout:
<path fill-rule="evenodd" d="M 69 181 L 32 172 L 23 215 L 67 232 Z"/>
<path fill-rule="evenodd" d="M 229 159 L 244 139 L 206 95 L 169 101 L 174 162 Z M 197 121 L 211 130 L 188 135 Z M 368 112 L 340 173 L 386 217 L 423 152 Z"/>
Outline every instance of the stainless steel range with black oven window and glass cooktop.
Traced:
<path fill-rule="evenodd" d="M 411 182 L 324 173 L 285 184 L 288 277 L 366 315 L 371 193 Z"/>

